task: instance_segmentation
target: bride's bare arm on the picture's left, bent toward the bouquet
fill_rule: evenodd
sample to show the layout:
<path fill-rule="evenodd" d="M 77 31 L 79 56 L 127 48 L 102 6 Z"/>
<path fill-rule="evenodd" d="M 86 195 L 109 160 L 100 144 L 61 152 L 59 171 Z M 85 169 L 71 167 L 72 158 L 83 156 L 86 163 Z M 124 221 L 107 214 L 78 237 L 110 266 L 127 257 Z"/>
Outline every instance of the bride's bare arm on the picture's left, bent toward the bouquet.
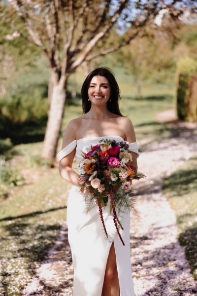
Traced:
<path fill-rule="evenodd" d="M 71 120 L 66 128 L 62 149 L 65 148 L 68 144 L 70 144 L 73 140 L 75 140 L 75 124 L 74 120 Z M 75 155 L 75 149 L 73 149 L 68 155 L 60 160 L 59 164 L 59 171 L 60 175 L 63 179 L 67 182 L 71 183 L 72 185 L 79 186 L 79 178 L 78 174 L 73 171 L 72 163 Z"/>

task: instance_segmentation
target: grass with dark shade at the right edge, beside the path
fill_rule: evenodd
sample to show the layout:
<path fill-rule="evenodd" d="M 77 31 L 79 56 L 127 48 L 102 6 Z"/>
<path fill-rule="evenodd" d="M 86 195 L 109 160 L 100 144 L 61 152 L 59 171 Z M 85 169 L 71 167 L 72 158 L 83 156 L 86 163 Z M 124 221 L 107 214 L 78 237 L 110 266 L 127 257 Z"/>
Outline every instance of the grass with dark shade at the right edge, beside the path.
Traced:
<path fill-rule="evenodd" d="M 197 155 L 164 179 L 163 190 L 176 213 L 179 242 L 197 278 Z"/>

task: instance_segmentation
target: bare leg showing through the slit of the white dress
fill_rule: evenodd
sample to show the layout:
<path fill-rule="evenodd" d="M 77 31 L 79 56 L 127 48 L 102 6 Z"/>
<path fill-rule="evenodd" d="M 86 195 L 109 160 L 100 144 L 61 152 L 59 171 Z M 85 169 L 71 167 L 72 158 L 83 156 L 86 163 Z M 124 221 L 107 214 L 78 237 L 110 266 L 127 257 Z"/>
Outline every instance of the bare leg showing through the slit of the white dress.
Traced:
<path fill-rule="evenodd" d="M 116 254 L 114 243 L 112 243 L 107 259 L 104 282 L 102 287 L 102 296 L 119 296 L 120 286 L 118 280 L 118 271 L 116 265 Z"/>

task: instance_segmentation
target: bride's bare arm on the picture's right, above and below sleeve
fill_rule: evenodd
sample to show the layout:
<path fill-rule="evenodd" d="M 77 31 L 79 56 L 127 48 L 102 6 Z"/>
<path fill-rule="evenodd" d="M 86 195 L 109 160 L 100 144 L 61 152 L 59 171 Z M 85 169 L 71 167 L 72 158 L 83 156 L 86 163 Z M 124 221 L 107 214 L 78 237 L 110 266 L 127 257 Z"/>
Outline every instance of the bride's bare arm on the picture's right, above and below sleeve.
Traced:
<path fill-rule="evenodd" d="M 128 117 L 124 117 L 123 123 L 124 124 L 122 126 L 124 126 L 125 141 L 130 144 L 136 142 L 135 131 L 131 120 Z M 133 168 L 137 171 L 137 158 L 139 155 L 133 151 L 130 151 L 130 153 L 132 154 Z"/>

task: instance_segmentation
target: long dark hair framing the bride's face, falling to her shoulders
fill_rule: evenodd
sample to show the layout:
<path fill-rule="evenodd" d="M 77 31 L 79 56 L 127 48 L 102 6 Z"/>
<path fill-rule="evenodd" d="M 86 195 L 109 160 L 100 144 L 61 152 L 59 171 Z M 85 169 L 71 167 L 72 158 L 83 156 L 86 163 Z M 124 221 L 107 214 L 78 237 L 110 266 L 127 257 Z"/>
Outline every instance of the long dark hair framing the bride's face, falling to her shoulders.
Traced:
<path fill-rule="evenodd" d="M 90 85 L 90 82 L 94 76 L 104 76 L 109 81 L 109 85 L 111 88 L 111 94 L 110 94 L 110 100 L 107 102 L 107 108 L 110 112 L 123 116 L 119 109 L 119 102 L 120 102 L 120 89 L 118 86 L 118 83 L 114 77 L 114 73 L 111 69 L 107 67 L 100 67 L 95 70 L 93 70 L 85 79 L 82 88 L 81 88 L 81 96 L 82 96 L 82 109 L 83 114 L 90 111 L 91 108 L 91 102 L 88 101 L 88 88 Z"/>

